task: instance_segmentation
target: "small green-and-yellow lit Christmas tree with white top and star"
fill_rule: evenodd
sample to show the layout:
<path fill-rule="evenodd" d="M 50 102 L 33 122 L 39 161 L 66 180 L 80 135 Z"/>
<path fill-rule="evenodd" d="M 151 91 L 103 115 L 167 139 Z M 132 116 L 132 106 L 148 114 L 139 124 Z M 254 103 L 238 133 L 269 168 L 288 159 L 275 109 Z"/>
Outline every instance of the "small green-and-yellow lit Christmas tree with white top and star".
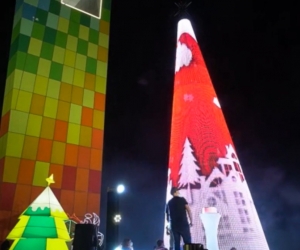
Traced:
<path fill-rule="evenodd" d="M 19 222 L 7 236 L 14 240 L 10 250 L 68 250 L 70 236 L 65 225 L 68 216 L 59 204 L 50 184 L 53 175 L 46 179 L 48 187 L 19 217 Z"/>

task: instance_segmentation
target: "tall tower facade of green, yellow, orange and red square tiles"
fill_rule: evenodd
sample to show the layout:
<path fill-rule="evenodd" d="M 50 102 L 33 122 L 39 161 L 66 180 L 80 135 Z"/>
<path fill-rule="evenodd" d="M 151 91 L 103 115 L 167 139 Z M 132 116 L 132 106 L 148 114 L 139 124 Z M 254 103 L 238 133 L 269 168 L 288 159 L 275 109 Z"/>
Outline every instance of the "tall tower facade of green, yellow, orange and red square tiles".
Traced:
<path fill-rule="evenodd" d="M 0 238 L 44 190 L 99 213 L 110 0 L 101 18 L 58 0 L 17 0 L 0 130 Z"/>

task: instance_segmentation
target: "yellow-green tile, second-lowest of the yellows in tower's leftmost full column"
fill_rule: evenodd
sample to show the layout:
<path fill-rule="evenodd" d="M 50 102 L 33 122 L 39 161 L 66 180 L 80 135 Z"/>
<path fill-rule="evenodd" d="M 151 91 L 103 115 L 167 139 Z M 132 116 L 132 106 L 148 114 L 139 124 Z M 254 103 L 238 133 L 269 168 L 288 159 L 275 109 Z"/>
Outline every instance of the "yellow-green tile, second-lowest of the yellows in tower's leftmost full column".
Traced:
<path fill-rule="evenodd" d="M 24 138 L 25 135 L 8 132 L 6 155 L 21 158 Z"/>

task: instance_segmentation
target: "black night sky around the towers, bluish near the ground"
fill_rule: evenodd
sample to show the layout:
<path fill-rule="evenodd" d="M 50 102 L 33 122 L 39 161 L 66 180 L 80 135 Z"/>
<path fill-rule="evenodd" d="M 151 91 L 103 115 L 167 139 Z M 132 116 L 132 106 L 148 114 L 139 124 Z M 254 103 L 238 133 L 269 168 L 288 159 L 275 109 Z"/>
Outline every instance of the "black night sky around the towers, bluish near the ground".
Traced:
<path fill-rule="evenodd" d="M 189 8 L 271 250 L 300 249 L 300 22 L 285 3 L 194 0 Z M 1 17 L 2 89 L 9 11 Z M 163 233 L 175 12 L 172 0 L 112 0 L 101 231 L 106 188 L 122 182 L 120 239 L 137 250 Z"/>

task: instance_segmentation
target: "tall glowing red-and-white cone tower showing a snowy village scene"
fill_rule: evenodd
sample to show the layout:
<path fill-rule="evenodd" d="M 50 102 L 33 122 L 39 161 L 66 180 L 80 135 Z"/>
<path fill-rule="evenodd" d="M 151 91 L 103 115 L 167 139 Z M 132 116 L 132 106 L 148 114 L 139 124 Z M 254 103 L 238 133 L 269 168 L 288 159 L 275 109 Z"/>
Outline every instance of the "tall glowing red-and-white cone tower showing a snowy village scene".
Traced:
<path fill-rule="evenodd" d="M 167 200 L 172 186 L 188 201 L 192 241 L 206 244 L 200 214 L 215 207 L 220 250 L 268 250 L 220 103 L 192 25 L 178 23 Z M 165 242 L 168 242 L 165 235 Z"/>

